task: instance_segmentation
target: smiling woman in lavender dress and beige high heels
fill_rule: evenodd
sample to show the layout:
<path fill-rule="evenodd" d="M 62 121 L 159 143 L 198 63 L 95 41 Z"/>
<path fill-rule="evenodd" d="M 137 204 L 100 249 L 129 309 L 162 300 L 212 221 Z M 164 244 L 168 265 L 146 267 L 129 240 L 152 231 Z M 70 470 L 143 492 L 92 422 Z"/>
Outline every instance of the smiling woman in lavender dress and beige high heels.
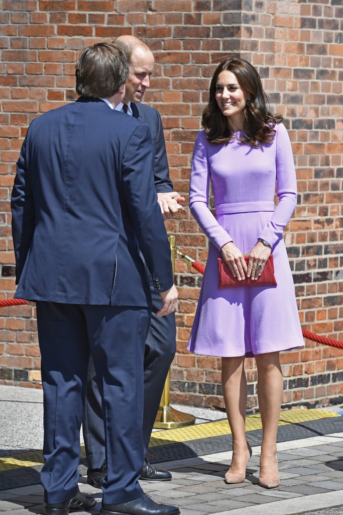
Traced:
<path fill-rule="evenodd" d="M 255 68 L 228 59 L 216 68 L 196 137 L 190 210 L 209 238 L 208 261 L 187 349 L 222 357 L 222 389 L 232 433 L 226 483 L 242 483 L 251 449 L 245 437 L 245 356 L 255 356 L 263 438 L 259 483 L 279 485 L 276 437 L 283 391 L 279 352 L 304 345 L 282 231 L 297 190 L 291 143 L 282 116 L 268 111 Z M 208 209 L 209 180 L 215 217 Z M 275 184 L 278 204 L 274 206 Z M 277 286 L 259 286 L 273 253 Z M 248 262 L 244 255 L 248 254 Z M 218 288 L 218 258 L 238 286 Z M 244 278 L 256 286 L 242 287 Z"/>

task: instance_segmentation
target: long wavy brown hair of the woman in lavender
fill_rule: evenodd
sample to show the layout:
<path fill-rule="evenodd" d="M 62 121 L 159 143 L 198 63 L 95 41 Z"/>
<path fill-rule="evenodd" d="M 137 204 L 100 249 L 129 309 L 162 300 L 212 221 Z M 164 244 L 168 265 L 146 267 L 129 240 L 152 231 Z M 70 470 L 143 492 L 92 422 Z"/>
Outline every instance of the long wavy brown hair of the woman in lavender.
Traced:
<path fill-rule="evenodd" d="M 210 143 L 227 144 L 232 138 L 232 132 L 227 125 L 227 116 L 224 116 L 215 99 L 218 76 L 225 70 L 237 77 L 240 87 L 248 93 L 250 99 L 243 113 L 244 135 L 241 136 L 240 141 L 254 147 L 260 146 L 261 143 L 271 143 L 275 136 L 274 127 L 282 122 L 283 117 L 281 114 L 270 113 L 268 99 L 256 68 L 240 58 L 225 59 L 214 72 L 210 84 L 210 98 L 202 116 L 207 140 Z"/>

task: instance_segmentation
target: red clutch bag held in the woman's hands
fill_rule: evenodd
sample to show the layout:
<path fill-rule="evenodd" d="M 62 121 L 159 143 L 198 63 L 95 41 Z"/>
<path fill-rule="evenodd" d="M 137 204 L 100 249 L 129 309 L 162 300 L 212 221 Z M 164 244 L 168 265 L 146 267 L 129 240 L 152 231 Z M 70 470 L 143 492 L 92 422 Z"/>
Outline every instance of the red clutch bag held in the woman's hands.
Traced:
<path fill-rule="evenodd" d="M 249 256 L 244 256 L 245 262 L 248 263 Z M 232 276 L 231 270 L 222 258 L 218 258 L 218 271 L 219 271 L 219 285 L 218 288 L 235 288 L 240 286 L 277 286 L 274 276 L 274 261 L 273 255 L 270 254 L 266 262 L 263 272 L 257 280 L 252 281 L 250 278 L 245 278 L 243 281 L 238 281 L 236 277 Z"/>

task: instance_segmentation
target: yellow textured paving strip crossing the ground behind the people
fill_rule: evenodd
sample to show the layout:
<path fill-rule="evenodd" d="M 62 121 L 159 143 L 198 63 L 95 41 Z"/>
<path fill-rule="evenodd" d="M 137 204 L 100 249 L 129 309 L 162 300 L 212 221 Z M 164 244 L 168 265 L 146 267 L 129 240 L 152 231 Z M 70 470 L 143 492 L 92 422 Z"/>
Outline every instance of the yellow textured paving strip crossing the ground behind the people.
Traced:
<path fill-rule="evenodd" d="M 324 418 L 340 417 L 333 411 L 324 411 L 321 409 L 290 409 L 282 411 L 279 425 L 296 424 L 309 420 L 320 420 Z M 249 415 L 246 417 L 246 430 L 254 431 L 261 429 L 260 415 Z M 187 442 L 189 440 L 199 440 L 201 438 L 211 438 L 214 436 L 222 436 L 230 433 L 227 420 L 218 420 L 215 422 L 205 422 L 204 424 L 196 424 L 192 426 L 179 427 L 177 429 L 167 429 L 154 432 L 151 436 L 149 447 L 156 445 L 167 445 L 168 443 Z M 84 457 L 84 446 L 81 447 L 81 456 Z M 0 472 L 6 470 L 19 469 L 24 467 L 35 467 L 42 465 L 42 451 L 32 451 L 13 456 L 0 457 Z"/>

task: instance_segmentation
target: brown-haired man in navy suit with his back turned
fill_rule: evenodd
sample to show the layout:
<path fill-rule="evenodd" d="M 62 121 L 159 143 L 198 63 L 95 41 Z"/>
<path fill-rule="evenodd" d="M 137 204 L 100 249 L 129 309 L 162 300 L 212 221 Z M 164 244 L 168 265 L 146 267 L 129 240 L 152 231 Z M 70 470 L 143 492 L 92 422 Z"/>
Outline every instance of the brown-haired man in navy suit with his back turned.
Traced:
<path fill-rule="evenodd" d="M 78 489 L 89 354 L 102 394 L 107 476 L 102 515 L 173 515 L 139 485 L 143 355 L 151 295 L 173 312 L 170 247 L 154 192 L 150 129 L 115 107 L 128 63 L 118 45 L 86 48 L 76 102 L 33 120 L 11 208 L 16 298 L 35 301 L 44 392 L 45 515 L 93 509 Z M 139 250 L 138 250 L 139 248 Z"/>

